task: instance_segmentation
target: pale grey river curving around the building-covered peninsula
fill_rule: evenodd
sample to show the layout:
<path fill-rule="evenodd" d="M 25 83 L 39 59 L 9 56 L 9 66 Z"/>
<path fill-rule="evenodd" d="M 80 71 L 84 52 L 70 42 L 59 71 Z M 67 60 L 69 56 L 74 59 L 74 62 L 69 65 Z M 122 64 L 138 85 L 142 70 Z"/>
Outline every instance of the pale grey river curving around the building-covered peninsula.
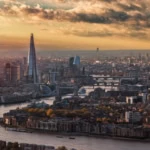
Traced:
<path fill-rule="evenodd" d="M 52 104 L 54 98 L 42 99 L 42 101 Z M 0 117 L 3 113 L 17 107 L 24 107 L 29 103 L 14 104 L 7 106 L 0 106 Z M 68 136 L 57 138 L 56 135 L 46 133 L 24 133 L 15 131 L 6 131 L 5 128 L 0 127 L 0 140 L 42 144 L 49 146 L 62 146 L 68 148 L 76 148 L 77 150 L 149 150 L 150 142 L 128 141 L 128 140 L 115 140 L 96 137 L 76 136 L 74 140 L 69 139 Z"/>

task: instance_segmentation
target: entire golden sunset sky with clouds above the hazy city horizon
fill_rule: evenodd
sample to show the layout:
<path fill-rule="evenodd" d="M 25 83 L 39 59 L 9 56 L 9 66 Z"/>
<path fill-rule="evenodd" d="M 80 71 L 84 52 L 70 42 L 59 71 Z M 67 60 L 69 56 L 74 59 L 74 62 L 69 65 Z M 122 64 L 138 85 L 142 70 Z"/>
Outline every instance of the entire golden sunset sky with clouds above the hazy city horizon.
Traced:
<path fill-rule="evenodd" d="M 0 50 L 150 49 L 150 0 L 0 0 Z"/>

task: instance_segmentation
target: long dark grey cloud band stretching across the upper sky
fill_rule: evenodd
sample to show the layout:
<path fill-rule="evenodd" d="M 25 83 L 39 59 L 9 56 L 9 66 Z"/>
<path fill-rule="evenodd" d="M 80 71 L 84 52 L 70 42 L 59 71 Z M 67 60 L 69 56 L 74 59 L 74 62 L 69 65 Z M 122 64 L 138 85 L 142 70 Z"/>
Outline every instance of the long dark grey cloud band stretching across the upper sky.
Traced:
<path fill-rule="evenodd" d="M 31 8 L 31 7 L 23 7 L 19 8 L 19 13 L 11 7 L 4 7 L 1 9 L 5 14 L 10 15 L 19 15 L 19 13 L 23 13 L 27 16 L 37 16 L 41 19 L 53 20 L 56 19 L 58 21 L 71 21 L 71 22 L 87 22 L 87 23 L 102 23 L 102 24 L 110 24 L 113 22 L 124 22 L 127 21 L 130 16 L 122 11 L 108 10 L 105 13 L 98 14 L 94 12 L 69 12 L 65 10 L 45 10 L 42 8 Z"/>

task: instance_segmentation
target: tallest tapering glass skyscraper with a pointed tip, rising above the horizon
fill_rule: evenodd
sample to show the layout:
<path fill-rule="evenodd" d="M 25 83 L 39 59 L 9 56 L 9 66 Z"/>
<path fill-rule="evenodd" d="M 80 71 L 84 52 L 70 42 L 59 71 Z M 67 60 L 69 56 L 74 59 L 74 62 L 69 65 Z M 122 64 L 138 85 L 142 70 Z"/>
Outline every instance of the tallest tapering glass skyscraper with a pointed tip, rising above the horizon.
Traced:
<path fill-rule="evenodd" d="M 28 82 L 38 83 L 38 74 L 37 74 L 37 66 L 36 66 L 36 53 L 35 53 L 33 34 L 31 34 L 31 38 L 30 38 L 30 51 L 28 54 L 27 79 L 28 79 Z"/>

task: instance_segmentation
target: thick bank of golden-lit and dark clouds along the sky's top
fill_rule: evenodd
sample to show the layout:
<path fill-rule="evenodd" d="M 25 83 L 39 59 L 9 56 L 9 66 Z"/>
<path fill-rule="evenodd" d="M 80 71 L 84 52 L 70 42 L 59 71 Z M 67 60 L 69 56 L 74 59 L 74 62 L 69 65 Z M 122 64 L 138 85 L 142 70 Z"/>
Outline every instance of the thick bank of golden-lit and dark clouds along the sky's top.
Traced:
<path fill-rule="evenodd" d="M 44 9 L 40 4 L 31 6 L 29 4 L 20 3 L 16 0 L 7 1 L 6 5 L 1 6 L 1 15 L 27 15 L 37 16 L 41 19 L 48 20 L 66 20 L 73 22 L 89 22 L 89 23 L 114 23 L 125 22 L 130 20 L 144 21 L 148 23 L 150 12 L 148 6 L 144 2 L 129 2 L 128 0 L 53 0 L 55 3 L 71 3 L 74 8 L 68 10 L 58 8 Z M 33 1 L 32 1 L 33 2 Z M 46 2 L 46 1 L 45 1 Z M 52 1 L 51 1 L 52 2 Z M 105 4 L 107 2 L 107 4 Z M 108 3 L 109 2 L 109 3 Z M 110 3 L 112 2 L 112 3 Z M 125 3 L 126 2 L 126 3 Z M 9 4 L 10 5 L 9 5 Z M 48 3 L 48 1 L 47 1 Z M 36 4 L 36 3 L 35 3 Z M 57 5 L 56 5 L 57 6 Z"/>

